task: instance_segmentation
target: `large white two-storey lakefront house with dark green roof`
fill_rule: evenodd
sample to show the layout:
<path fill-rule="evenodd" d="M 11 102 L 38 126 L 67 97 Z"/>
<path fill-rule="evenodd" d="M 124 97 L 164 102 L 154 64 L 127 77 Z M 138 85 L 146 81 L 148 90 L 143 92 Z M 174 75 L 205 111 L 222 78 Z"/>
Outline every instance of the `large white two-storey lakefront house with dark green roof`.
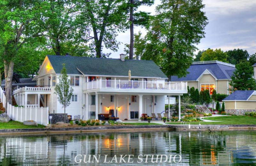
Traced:
<path fill-rule="evenodd" d="M 64 113 L 57 101 L 54 87 L 62 64 L 74 89 L 68 115 L 81 115 L 84 119 L 98 118 L 110 113 L 120 119 L 139 119 L 143 113 L 164 111 L 166 95 L 187 93 L 187 83 L 165 82 L 167 77 L 153 61 L 52 56 L 45 57 L 38 75 L 37 87 L 23 87 L 13 92 L 18 105 L 49 107 L 50 113 Z M 131 70 L 131 81 L 128 72 Z"/>

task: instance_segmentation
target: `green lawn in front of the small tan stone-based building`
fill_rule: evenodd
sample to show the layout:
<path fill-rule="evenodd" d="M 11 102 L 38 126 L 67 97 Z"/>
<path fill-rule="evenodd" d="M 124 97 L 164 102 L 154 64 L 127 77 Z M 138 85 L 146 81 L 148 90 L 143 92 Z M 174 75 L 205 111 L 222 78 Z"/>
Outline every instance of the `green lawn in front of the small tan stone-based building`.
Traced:
<path fill-rule="evenodd" d="M 220 122 L 187 122 L 187 124 L 213 124 L 213 125 L 232 125 L 232 124 L 247 124 L 247 125 L 256 125 L 256 118 L 249 116 L 228 116 L 228 117 L 205 117 L 207 120 L 214 120 Z M 180 124 L 180 122 L 171 122 L 167 124 Z M 182 122 L 183 124 L 183 122 Z"/>

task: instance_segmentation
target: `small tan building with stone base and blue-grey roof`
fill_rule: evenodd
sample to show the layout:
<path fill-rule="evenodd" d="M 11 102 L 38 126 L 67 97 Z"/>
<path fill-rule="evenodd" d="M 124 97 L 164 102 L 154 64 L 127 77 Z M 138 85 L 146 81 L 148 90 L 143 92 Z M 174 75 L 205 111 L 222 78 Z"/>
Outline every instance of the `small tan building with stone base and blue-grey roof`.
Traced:
<path fill-rule="evenodd" d="M 244 115 L 245 112 L 256 111 L 255 90 L 236 90 L 222 101 L 229 114 Z"/>

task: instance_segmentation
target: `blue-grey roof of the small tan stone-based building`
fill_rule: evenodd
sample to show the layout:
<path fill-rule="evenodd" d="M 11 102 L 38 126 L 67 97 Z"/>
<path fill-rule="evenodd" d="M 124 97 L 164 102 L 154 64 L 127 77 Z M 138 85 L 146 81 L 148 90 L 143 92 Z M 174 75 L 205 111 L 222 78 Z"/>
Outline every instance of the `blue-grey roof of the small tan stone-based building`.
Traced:
<path fill-rule="evenodd" d="M 236 90 L 222 101 L 247 100 L 252 95 L 253 92 L 254 90 Z"/>

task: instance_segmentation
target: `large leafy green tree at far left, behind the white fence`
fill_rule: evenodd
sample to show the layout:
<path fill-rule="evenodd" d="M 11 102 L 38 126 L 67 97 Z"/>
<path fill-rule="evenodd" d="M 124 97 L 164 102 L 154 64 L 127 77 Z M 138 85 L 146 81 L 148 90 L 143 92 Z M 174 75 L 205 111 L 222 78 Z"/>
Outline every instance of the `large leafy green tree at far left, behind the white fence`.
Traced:
<path fill-rule="evenodd" d="M 12 104 L 12 75 L 14 62 L 25 43 L 33 43 L 41 33 L 39 21 L 42 18 L 40 0 L 0 1 L 0 55 L 4 61 L 6 102 Z M 24 57 L 23 60 L 26 60 Z"/>

